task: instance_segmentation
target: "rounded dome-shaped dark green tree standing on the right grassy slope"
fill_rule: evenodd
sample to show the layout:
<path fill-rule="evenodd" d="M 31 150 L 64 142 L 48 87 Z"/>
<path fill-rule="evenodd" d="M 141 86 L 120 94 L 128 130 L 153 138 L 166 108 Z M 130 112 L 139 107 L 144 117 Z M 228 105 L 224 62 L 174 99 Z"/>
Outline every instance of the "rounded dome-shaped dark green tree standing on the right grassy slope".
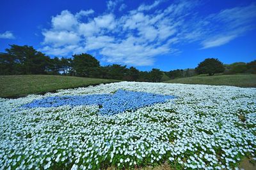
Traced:
<path fill-rule="evenodd" d="M 198 74 L 209 74 L 209 76 L 212 76 L 215 73 L 223 73 L 225 67 L 220 60 L 211 58 L 200 62 L 195 70 Z"/>

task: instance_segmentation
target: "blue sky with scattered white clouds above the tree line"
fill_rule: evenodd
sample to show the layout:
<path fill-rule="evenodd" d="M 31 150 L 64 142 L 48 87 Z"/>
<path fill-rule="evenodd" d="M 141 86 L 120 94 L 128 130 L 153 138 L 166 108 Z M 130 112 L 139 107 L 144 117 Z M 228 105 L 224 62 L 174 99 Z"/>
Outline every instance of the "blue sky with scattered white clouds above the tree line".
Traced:
<path fill-rule="evenodd" d="M 31 45 L 54 57 L 90 53 L 100 64 L 170 71 L 214 57 L 256 59 L 256 1 L 6 1 L 0 52 Z"/>

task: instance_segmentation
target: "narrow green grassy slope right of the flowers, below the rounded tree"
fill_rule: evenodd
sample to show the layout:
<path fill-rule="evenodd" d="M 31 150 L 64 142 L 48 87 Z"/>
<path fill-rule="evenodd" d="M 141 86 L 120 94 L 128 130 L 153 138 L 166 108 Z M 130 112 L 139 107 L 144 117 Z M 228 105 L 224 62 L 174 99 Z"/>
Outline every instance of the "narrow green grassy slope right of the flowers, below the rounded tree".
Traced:
<path fill-rule="evenodd" d="M 216 76 L 192 76 L 164 81 L 164 83 L 184 83 L 201 85 L 232 85 L 237 87 L 256 87 L 256 74 L 233 74 Z"/>

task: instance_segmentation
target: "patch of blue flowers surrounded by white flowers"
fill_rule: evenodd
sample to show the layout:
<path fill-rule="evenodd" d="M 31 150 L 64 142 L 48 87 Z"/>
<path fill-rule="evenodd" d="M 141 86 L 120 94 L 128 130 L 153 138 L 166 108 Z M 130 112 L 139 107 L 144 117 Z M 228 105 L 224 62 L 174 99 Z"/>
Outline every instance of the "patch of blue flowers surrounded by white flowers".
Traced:
<path fill-rule="evenodd" d="M 156 103 L 164 103 L 174 96 L 164 96 L 147 92 L 132 92 L 128 90 L 117 90 L 114 94 L 92 94 L 86 96 L 56 96 L 35 100 L 32 103 L 24 104 L 24 108 L 58 107 L 58 106 L 79 106 L 99 105 L 100 115 L 115 115 L 126 110 L 134 111 L 144 106 Z"/>

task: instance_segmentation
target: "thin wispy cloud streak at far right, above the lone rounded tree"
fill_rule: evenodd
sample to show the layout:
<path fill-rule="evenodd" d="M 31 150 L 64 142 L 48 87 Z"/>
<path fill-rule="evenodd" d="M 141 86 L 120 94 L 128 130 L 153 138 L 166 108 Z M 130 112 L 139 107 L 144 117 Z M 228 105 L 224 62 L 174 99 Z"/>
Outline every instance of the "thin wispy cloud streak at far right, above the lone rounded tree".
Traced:
<path fill-rule="evenodd" d="M 197 25 L 198 32 L 209 34 L 202 41 L 202 49 L 225 45 L 233 39 L 243 36 L 256 27 L 256 5 L 239 6 L 214 13 Z M 202 29 L 211 28 L 205 32 Z"/>

